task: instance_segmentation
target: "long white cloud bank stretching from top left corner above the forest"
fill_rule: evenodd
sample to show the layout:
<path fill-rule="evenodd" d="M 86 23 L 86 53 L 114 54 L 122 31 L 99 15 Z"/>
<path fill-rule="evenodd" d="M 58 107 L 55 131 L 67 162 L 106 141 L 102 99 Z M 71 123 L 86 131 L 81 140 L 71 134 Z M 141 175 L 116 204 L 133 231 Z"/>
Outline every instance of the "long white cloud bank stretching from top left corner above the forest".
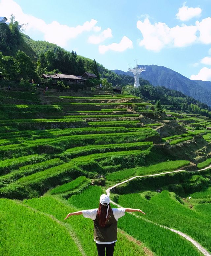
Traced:
<path fill-rule="evenodd" d="M 1 13 L 8 19 L 11 14 L 15 16 L 20 24 L 24 23 L 28 25 L 25 27 L 25 32 L 39 31 L 44 34 L 44 39 L 51 43 L 58 44 L 62 47 L 66 46 L 68 40 L 76 38 L 79 34 L 88 31 L 100 31 L 100 27 L 95 26 L 97 21 L 91 19 L 86 21 L 83 25 L 76 27 L 69 27 L 67 25 L 61 25 L 57 21 L 53 21 L 50 24 L 45 23 L 44 20 L 38 19 L 32 15 L 24 14 L 21 7 L 13 0 L 1 0 L 0 2 Z"/>

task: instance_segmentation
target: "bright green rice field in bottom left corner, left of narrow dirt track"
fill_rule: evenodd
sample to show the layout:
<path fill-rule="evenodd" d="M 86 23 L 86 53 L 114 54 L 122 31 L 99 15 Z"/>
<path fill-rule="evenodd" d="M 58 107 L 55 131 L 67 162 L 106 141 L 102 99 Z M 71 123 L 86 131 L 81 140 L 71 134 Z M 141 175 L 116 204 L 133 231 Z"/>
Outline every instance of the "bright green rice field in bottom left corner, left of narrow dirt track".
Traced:
<path fill-rule="evenodd" d="M 0 212 L 1 255 L 82 256 L 68 230 L 50 216 L 8 199 L 0 199 Z"/>

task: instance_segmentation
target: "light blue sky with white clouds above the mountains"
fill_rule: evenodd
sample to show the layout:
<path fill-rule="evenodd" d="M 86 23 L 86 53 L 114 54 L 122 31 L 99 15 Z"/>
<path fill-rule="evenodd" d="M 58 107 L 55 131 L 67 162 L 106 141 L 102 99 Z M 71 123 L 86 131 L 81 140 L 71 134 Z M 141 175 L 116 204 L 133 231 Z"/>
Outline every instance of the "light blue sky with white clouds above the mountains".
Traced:
<path fill-rule="evenodd" d="M 0 16 L 28 23 L 34 40 L 108 69 L 127 71 L 137 59 L 195 80 L 211 80 L 210 11 L 210 0 L 0 0 Z"/>

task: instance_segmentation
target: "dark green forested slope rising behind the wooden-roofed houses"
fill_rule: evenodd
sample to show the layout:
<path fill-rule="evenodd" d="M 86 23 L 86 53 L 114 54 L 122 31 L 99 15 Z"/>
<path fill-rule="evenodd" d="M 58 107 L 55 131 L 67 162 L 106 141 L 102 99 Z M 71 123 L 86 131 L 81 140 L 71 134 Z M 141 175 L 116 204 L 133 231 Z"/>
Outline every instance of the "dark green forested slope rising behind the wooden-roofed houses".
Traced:
<path fill-rule="evenodd" d="M 131 76 L 119 76 L 100 63 L 96 63 L 95 60 L 78 56 L 76 52 L 66 51 L 56 44 L 35 41 L 22 32 L 22 25 L 15 21 L 13 16 L 9 25 L 0 24 L 0 51 L 2 53 L 0 56 L 0 79 L 13 81 L 34 79 L 36 83 L 39 83 L 43 73 L 82 76 L 84 72 L 89 72 L 94 73 L 98 79 L 106 79 L 113 86 L 133 84 L 134 79 Z M 19 56 L 24 56 L 25 60 L 19 59 L 20 63 L 28 63 L 27 66 L 31 67 L 30 72 L 29 69 L 24 70 L 25 64 L 21 66 L 21 70 L 17 69 L 17 53 Z M 31 60 L 27 59 L 27 56 Z M 99 83 L 100 81 L 98 81 Z M 141 79 L 140 84 L 149 83 Z"/>

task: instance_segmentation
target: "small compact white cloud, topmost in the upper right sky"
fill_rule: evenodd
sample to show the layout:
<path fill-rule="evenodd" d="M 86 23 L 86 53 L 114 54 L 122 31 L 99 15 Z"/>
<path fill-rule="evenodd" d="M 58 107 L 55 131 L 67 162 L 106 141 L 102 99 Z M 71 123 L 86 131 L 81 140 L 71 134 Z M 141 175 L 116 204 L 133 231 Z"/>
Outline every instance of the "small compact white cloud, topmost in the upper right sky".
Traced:
<path fill-rule="evenodd" d="M 201 15 L 201 8 L 196 7 L 188 7 L 185 6 L 185 3 L 182 7 L 178 9 L 178 13 L 176 14 L 177 19 L 180 19 L 181 21 L 187 21 L 194 17 L 199 17 Z"/>

